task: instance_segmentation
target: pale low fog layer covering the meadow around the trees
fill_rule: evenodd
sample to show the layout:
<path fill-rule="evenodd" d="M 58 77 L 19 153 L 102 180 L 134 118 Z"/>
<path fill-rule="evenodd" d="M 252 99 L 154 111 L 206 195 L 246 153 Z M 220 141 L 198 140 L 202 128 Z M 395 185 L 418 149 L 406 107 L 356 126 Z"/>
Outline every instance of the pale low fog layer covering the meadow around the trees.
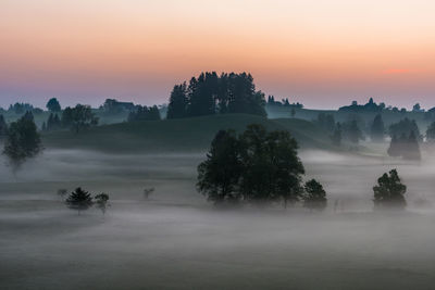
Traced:
<path fill-rule="evenodd" d="M 0 288 L 433 289 L 435 162 L 300 156 L 327 191 L 322 213 L 214 209 L 195 189 L 203 153 L 46 150 L 16 177 L 2 166 Z M 373 212 L 372 187 L 391 168 L 407 211 Z M 78 186 L 110 194 L 105 216 L 65 207 L 57 190 Z"/>

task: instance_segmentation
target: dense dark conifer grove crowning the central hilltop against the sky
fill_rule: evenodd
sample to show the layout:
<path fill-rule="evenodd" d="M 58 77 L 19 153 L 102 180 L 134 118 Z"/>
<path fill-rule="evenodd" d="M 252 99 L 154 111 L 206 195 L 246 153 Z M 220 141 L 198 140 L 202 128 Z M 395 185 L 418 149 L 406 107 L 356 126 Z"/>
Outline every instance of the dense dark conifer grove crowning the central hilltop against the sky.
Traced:
<path fill-rule="evenodd" d="M 201 73 L 174 86 L 167 106 L 167 118 L 246 113 L 265 116 L 264 93 L 256 90 L 250 74 Z"/>

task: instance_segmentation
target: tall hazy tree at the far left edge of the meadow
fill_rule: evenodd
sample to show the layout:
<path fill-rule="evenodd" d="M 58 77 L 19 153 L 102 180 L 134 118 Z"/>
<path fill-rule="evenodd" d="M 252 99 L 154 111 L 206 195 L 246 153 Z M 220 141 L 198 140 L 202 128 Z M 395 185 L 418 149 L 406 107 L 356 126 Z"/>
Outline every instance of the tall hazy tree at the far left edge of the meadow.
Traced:
<path fill-rule="evenodd" d="M 18 121 L 11 123 L 3 154 L 9 159 L 14 173 L 27 159 L 36 156 L 41 151 L 40 136 L 29 115 L 24 115 Z"/>

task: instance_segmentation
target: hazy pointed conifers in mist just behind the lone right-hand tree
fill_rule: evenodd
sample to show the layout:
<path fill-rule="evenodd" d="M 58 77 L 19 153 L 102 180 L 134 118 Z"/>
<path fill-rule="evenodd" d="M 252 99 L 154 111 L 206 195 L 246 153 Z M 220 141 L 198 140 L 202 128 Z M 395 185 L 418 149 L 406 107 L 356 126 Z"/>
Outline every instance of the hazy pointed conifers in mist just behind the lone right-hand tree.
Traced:
<path fill-rule="evenodd" d="M 394 135 L 387 153 L 394 157 L 421 160 L 419 140 L 417 139 L 414 131 L 411 130 L 408 137 L 405 133 L 398 138 Z"/>

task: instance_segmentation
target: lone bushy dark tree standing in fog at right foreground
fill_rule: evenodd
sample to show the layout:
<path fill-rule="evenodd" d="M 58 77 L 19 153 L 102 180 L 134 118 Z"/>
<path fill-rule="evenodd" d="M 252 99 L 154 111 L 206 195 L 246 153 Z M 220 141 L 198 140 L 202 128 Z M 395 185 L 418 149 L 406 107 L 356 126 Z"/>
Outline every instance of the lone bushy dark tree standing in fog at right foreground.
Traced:
<path fill-rule="evenodd" d="M 391 169 L 388 174 L 384 174 L 377 179 L 377 185 L 373 187 L 375 209 L 396 207 L 405 209 L 407 202 L 405 186 L 396 169 Z"/>

